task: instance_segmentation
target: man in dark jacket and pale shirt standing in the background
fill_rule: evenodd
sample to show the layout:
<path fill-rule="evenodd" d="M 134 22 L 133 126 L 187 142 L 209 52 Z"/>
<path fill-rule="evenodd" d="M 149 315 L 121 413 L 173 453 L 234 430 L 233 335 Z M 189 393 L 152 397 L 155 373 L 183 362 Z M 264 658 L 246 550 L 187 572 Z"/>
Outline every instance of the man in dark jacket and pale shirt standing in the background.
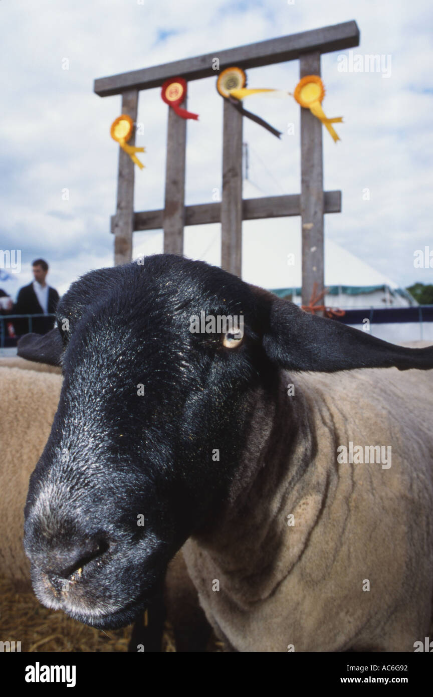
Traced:
<path fill-rule="evenodd" d="M 54 314 L 58 303 L 58 292 L 45 282 L 48 273 L 48 264 L 44 259 L 33 261 L 33 283 L 19 290 L 17 302 L 13 306 L 12 314 Z M 32 318 L 31 328 L 29 321 L 16 321 L 15 332 L 19 335 L 27 332 L 46 334 L 54 327 L 54 317 Z"/>

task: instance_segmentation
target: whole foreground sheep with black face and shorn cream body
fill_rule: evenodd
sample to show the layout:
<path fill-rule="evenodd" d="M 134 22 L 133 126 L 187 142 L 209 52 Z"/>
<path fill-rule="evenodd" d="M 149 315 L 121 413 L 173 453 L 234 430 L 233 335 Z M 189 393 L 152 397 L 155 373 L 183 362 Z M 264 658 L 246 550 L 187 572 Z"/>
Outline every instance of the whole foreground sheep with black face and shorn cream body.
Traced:
<path fill-rule="evenodd" d="M 243 333 L 191 331 L 218 316 L 242 316 Z M 89 273 L 57 317 L 19 345 L 64 375 L 26 502 L 43 604 L 125 625 L 188 539 L 200 603 L 232 650 L 410 651 L 427 635 L 432 347 L 172 255 Z M 361 464 L 377 445 L 382 464 Z"/>

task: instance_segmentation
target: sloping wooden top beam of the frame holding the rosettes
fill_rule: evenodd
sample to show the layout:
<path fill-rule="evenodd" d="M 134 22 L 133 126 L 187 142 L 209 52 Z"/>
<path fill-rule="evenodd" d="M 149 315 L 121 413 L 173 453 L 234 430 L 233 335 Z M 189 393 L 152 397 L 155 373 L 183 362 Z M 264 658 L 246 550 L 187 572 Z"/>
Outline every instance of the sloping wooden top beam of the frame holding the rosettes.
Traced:
<path fill-rule="evenodd" d="M 258 68 L 272 63 L 292 61 L 307 52 L 329 53 L 358 45 L 359 29 L 356 22 L 352 20 L 225 51 L 214 51 L 203 56 L 165 63 L 162 66 L 100 77 L 95 80 L 94 90 L 100 97 L 107 97 L 119 94 L 125 89 L 141 90 L 159 87 L 168 77 L 176 75 L 182 75 L 189 82 L 202 77 L 216 76 L 217 72 L 212 69 L 212 61 L 216 57 L 219 59 L 220 70 L 228 66 Z"/>

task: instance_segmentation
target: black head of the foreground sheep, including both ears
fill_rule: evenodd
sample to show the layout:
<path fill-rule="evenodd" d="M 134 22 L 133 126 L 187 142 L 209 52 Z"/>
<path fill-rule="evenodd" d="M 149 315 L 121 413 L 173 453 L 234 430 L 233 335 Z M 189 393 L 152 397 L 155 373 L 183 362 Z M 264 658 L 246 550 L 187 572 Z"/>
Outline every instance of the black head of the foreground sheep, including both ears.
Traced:
<path fill-rule="evenodd" d="M 215 524 L 281 367 L 433 367 L 430 348 L 308 315 L 203 262 L 140 261 L 79 279 L 58 327 L 19 343 L 64 376 L 26 502 L 33 588 L 97 627 L 134 620 L 184 540 Z"/>

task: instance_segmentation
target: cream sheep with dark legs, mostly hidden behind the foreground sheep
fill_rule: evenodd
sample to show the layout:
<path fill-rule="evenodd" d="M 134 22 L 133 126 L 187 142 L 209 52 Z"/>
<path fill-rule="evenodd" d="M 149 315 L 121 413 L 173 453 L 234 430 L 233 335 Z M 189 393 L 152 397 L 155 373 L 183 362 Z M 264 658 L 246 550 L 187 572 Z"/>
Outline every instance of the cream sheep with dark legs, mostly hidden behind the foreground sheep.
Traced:
<path fill-rule="evenodd" d="M 51 431 L 62 378 L 60 368 L 24 358 L 0 358 L 0 576 L 15 590 L 29 590 L 30 562 L 24 553 L 24 504 L 33 472 Z M 13 610 L 11 610 L 13 611 Z M 204 650 L 207 627 L 179 552 L 168 567 L 164 602 L 137 620 L 130 649 L 160 650 L 164 618 L 173 627 L 176 650 Z M 1 622 L 0 622 L 1 624 Z M 159 648 L 158 648 L 159 647 Z"/>

